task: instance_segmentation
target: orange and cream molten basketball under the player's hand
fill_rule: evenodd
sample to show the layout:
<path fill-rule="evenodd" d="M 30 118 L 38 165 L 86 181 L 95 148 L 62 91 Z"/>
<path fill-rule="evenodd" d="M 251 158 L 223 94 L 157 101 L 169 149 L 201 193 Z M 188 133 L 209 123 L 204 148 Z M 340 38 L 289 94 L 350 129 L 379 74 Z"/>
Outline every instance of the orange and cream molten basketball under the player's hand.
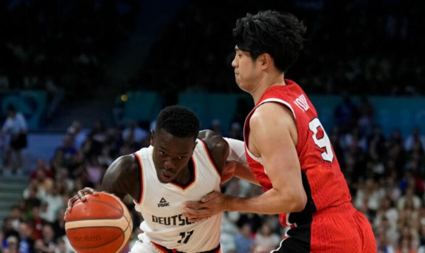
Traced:
<path fill-rule="evenodd" d="M 77 252 L 120 252 L 129 243 L 133 221 L 121 200 L 105 192 L 77 200 L 65 216 L 66 236 Z"/>

